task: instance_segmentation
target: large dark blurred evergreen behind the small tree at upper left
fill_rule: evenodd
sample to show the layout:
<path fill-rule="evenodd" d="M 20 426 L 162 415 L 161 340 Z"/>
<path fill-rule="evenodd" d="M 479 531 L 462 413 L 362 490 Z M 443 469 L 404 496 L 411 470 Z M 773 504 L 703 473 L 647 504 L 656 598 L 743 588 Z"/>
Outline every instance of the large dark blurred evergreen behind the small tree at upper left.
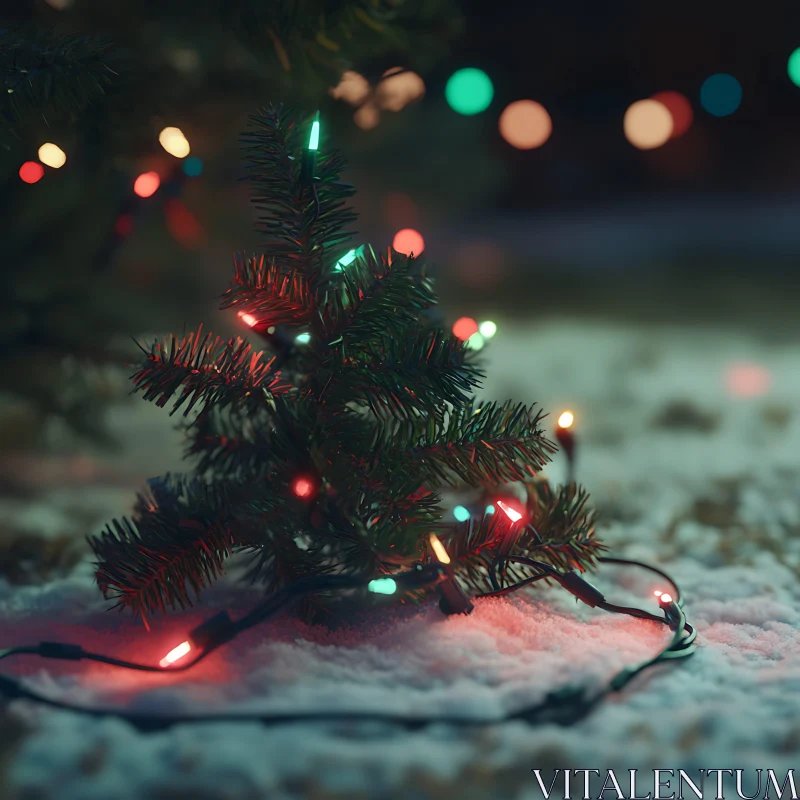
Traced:
<path fill-rule="evenodd" d="M 102 365 L 122 363 L 132 335 L 205 315 L 228 241 L 250 228 L 237 185 L 247 113 L 333 104 L 356 65 L 368 86 L 424 71 L 461 30 L 454 0 L 48 0 L 5 13 L 4 447 L 41 442 L 54 421 L 111 443 L 103 398 L 121 384 Z M 395 110 L 415 99 L 396 89 Z M 178 125 L 191 159 L 159 145 Z M 134 189 L 148 173 L 159 190 Z"/>

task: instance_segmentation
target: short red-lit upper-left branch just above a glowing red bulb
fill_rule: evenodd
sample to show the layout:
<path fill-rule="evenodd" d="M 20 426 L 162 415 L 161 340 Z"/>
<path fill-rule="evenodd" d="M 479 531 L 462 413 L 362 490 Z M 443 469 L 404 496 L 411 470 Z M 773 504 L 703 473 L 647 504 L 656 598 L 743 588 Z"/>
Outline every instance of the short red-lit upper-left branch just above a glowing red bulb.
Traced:
<path fill-rule="evenodd" d="M 311 315 L 314 301 L 305 279 L 297 271 L 282 272 L 266 256 L 234 256 L 231 288 L 222 296 L 220 309 L 251 314 L 259 327 L 301 325 Z"/>

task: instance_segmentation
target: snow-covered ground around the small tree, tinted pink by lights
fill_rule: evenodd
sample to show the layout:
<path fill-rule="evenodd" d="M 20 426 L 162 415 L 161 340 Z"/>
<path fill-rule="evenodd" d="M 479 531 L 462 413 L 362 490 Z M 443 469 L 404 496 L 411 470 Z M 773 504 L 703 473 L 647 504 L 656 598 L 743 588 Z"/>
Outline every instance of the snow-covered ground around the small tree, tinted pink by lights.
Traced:
<path fill-rule="evenodd" d="M 487 362 L 484 396 L 575 412 L 578 474 L 605 519 L 602 535 L 613 554 L 679 580 L 699 631 L 692 659 L 637 680 L 570 728 L 225 723 L 145 735 L 17 703 L 28 730 L 0 775 L 3 796 L 533 798 L 534 768 L 796 767 L 800 351 L 721 330 L 565 321 L 501 324 Z M 80 509 L 90 526 L 82 535 L 125 512 L 136 482 L 173 469 L 179 446 L 167 415 L 144 403 L 121 408 L 118 422 L 124 470 L 84 460 L 81 478 L 62 464 L 40 500 L 4 501 L 6 518 L 56 536 L 74 529 Z M 557 482 L 563 468 L 556 457 L 547 473 Z M 646 574 L 609 567 L 592 580 L 654 610 Z M 61 639 L 157 661 L 210 609 L 254 599 L 229 580 L 148 633 L 104 610 L 84 561 L 43 586 L 0 579 L 0 647 Z M 653 623 L 547 590 L 478 601 L 469 617 L 445 619 L 435 606 L 373 611 L 346 630 L 282 617 L 183 676 L 22 659 L 3 667 L 53 696 L 137 709 L 491 718 L 558 686 L 598 685 L 664 639 Z"/>

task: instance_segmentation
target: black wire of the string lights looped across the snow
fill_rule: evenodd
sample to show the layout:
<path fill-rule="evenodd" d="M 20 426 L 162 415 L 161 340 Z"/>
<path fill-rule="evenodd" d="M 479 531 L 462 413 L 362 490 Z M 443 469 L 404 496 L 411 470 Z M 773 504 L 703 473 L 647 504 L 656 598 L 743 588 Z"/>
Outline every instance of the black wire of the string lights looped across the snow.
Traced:
<path fill-rule="evenodd" d="M 26 686 L 14 678 L 0 675 L 0 694 L 7 699 L 22 699 L 46 705 L 51 708 L 78 712 L 93 717 L 113 716 L 126 720 L 142 731 L 156 731 L 169 728 L 173 725 L 201 722 L 232 722 L 232 721 L 257 721 L 264 725 L 281 725 L 303 722 L 380 722 L 385 724 L 400 725 L 404 728 L 415 730 L 433 724 L 483 726 L 495 725 L 513 720 L 524 721 L 527 724 L 542 724 L 553 722 L 562 725 L 572 724 L 587 716 L 609 694 L 621 691 L 631 680 L 640 675 L 649 667 L 664 661 L 684 658 L 691 655 L 694 650 L 696 632 L 686 621 L 686 616 L 681 608 L 681 594 L 678 585 L 667 573 L 636 561 L 625 559 L 603 558 L 607 563 L 617 563 L 640 566 L 663 577 L 672 587 L 674 595 L 670 602 L 662 602 L 663 617 L 650 614 L 636 608 L 627 608 L 609 603 L 603 595 L 591 584 L 581 578 L 577 573 L 560 573 L 554 567 L 542 561 L 524 556 L 501 556 L 494 560 L 489 570 L 490 580 L 495 591 L 486 592 L 479 597 L 491 597 L 508 594 L 511 591 L 534 583 L 539 580 L 551 579 L 559 582 L 565 589 L 590 606 L 603 608 L 613 613 L 622 613 L 654 620 L 670 627 L 673 636 L 670 643 L 653 658 L 636 667 L 622 670 L 602 689 L 594 694 L 589 694 L 581 687 L 566 687 L 548 694 L 545 699 L 537 704 L 527 706 L 517 711 L 510 712 L 500 717 L 467 717 L 463 715 L 402 715 L 387 714 L 371 711 L 273 711 L 273 712 L 246 712 L 246 713 L 214 713 L 214 714 L 148 714 L 129 711 L 124 708 L 103 708 L 83 706 L 77 703 L 57 700 L 40 693 L 36 689 Z M 537 572 L 530 578 L 521 580 L 511 586 L 499 585 L 498 570 L 505 563 L 518 563 L 529 566 Z M 447 568 L 440 564 L 428 564 L 416 567 L 409 572 L 392 576 L 398 588 L 411 589 L 420 586 L 430 586 L 445 580 L 452 580 L 452 575 Z M 274 616 L 282 608 L 294 600 L 308 594 L 330 591 L 334 589 L 348 590 L 366 588 L 369 581 L 350 575 L 322 575 L 301 578 L 284 587 L 262 603 L 256 605 L 238 621 L 231 620 L 226 612 L 218 614 L 190 634 L 192 637 L 202 638 L 202 646 L 196 649 L 199 653 L 190 661 L 180 666 L 152 666 L 139 664 L 123 659 L 113 658 L 98 653 L 83 650 L 79 645 L 60 642 L 42 642 L 39 645 L 8 648 L 0 650 L 0 660 L 12 656 L 38 655 L 43 658 L 56 658 L 61 660 L 89 660 L 97 661 L 124 669 L 133 669 L 144 672 L 185 672 L 209 656 L 214 650 L 226 644 L 236 635 L 248 628 L 259 625 Z"/>

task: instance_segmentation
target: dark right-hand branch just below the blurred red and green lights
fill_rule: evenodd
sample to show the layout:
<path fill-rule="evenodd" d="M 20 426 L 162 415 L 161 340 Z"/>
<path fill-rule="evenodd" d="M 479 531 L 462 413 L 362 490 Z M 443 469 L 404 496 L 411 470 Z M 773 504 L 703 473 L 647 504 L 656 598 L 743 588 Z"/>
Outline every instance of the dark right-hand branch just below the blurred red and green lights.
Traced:
<path fill-rule="evenodd" d="M 365 405 L 380 419 L 439 418 L 447 404 L 468 402 L 480 385 L 484 373 L 468 361 L 470 355 L 455 336 L 418 327 L 367 353 L 337 353 L 325 395 L 334 405 Z M 328 380 L 324 372 L 319 380 Z"/>

